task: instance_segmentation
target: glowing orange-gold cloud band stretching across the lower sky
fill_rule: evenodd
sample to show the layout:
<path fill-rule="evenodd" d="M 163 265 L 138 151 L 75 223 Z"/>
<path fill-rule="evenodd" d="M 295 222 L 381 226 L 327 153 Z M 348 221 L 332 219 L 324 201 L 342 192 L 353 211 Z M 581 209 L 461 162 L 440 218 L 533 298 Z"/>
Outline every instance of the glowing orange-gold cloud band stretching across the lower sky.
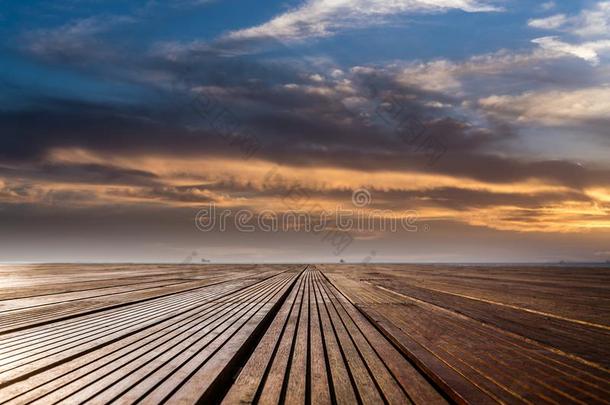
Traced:
<path fill-rule="evenodd" d="M 69 151 L 57 153 L 56 159 L 59 156 L 67 158 Z M 82 159 L 85 155 L 80 156 Z M 96 155 L 88 156 L 91 159 Z M 129 156 L 114 156 L 108 160 L 115 163 L 122 161 L 127 171 L 130 166 L 149 172 L 154 170 L 158 184 L 73 184 L 61 182 L 60 178 L 46 181 L 38 178 L 33 182 L 26 177 L 29 173 L 24 172 L 19 179 L 0 181 L 0 203 L 4 203 L 5 208 L 20 204 L 58 204 L 73 208 L 151 205 L 180 208 L 215 202 L 225 208 L 283 212 L 295 209 L 287 205 L 286 196 L 298 187 L 300 193 L 307 196 L 307 204 L 333 210 L 338 205 L 349 204 L 351 190 L 365 186 L 374 196 L 370 209 L 396 213 L 417 209 L 426 218 L 451 218 L 488 228 L 543 232 L 579 232 L 587 226 L 608 227 L 607 214 L 610 210 L 606 203 L 591 197 L 584 190 L 570 190 L 531 180 L 498 184 L 469 180 L 458 173 L 371 173 L 323 166 L 282 166 L 275 172 L 279 173 L 278 176 L 272 175 L 267 179 L 265 173 L 277 166 L 263 161 L 252 162 L 249 171 L 244 172 L 243 163 L 238 160 L 189 161 L 179 157 Z M 85 162 L 81 162 L 81 165 L 85 165 Z M 565 173 L 575 171 L 574 167 L 570 169 L 564 162 L 537 162 L 521 167 L 513 165 L 512 171 L 555 173 L 556 168 L 562 165 Z M 189 170 L 197 171 L 202 181 L 188 182 L 188 177 L 193 175 L 186 174 Z M 176 171 L 182 174 L 178 175 Z M 584 169 L 573 177 L 579 176 L 588 177 Z M 610 197 L 607 193 L 603 196 Z M 563 220 L 559 220 L 561 218 Z"/>

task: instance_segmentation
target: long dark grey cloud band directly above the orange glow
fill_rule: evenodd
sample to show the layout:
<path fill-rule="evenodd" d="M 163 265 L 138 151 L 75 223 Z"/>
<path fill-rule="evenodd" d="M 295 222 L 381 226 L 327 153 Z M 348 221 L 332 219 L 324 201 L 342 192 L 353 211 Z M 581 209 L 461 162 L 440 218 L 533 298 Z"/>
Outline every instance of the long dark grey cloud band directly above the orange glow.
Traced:
<path fill-rule="evenodd" d="M 294 97 L 298 97 L 294 95 Z M 39 162 L 52 148 L 83 148 L 120 155 L 155 153 L 173 156 L 234 156 L 238 148 L 226 142 L 202 121 L 189 99 L 186 107 L 124 107 L 47 100 L 48 107 L 0 113 L 0 156 L 11 162 Z M 230 99 L 223 99 L 232 106 Z M 311 107 L 310 107 L 311 108 Z M 608 184 L 610 172 L 569 161 L 526 161 L 492 155 L 496 142 L 511 137 L 509 129 L 472 128 L 452 118 L 426 122 L 426 131 L 438 137 L 448 152 L 430 166 L 390 129 L 367 127 L 337 109 L 307 116 L 294 111 L 267 109 L 253 114 L 234 109 L 241 127 L 261 139 L 257 157 L 294 166 L 344 167 L 358 170 L 419 171 L 464 176 L 477 180 L 510 183 L 543 179 L 573 188 Z M 341 115 L 344 114 L 344 115 Z M 51 176 L 67 179 L 83 176 L 92 182 L 125 179 L 141 184 L 154 181 L 151 174 L 120 172 L 119 168 L 95 166 L 53 168 Z M 105 173 L 103 173 L 105 171 Z M 78 173 L 77 173 L 78 172 Z M 97 179 L 97 180 L 96 180 Z M 73 181 L 73 180 L 69 180 Z M 117 180 L 120 181 L 120 180 Z"/>

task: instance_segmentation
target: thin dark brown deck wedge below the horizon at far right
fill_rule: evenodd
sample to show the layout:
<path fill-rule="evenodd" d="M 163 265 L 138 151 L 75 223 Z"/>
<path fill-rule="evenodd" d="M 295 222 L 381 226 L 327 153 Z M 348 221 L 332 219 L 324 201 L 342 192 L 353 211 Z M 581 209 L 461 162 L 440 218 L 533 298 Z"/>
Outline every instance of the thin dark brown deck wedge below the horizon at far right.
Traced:
<path fill-rule="evenodd" d="M 325 266 L 329 275 L 335 270 L 363 281 L 395 280 L 610 327 L 610 267 Z"/>

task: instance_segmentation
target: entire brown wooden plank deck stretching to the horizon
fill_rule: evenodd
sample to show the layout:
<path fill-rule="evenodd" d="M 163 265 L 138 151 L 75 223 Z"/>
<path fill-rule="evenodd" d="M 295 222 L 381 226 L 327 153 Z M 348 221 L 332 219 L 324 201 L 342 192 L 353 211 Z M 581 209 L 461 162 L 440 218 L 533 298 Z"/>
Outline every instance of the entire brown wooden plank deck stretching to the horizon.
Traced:
<path fill-rule="evenodd" d="M 0 403 L 610 403 L 610 268 L 0 266 Z"/>

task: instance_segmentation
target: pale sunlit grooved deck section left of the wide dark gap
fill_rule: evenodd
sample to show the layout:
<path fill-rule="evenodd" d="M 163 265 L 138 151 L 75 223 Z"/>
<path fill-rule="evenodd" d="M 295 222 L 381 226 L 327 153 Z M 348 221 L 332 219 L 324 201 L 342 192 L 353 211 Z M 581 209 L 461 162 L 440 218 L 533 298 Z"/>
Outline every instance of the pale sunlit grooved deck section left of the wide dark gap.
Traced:
<path fill-rule="evenodd" d="M 207 273 L 216 282 L 154 299 L 121 294 L 120 306 L 0 334 L 0 399 L 154 403 L 177 396 L 194 403 L 214 395 L 216 381 L 226 378 L 224 366 L 273 317 L 301 268 L 200 269 L 198 276 Z M 32 297 L 32 287 L 20 288 L 30 288 L 24 292 Z M 4 315 L 0 325 L 13 316 Z"/>

